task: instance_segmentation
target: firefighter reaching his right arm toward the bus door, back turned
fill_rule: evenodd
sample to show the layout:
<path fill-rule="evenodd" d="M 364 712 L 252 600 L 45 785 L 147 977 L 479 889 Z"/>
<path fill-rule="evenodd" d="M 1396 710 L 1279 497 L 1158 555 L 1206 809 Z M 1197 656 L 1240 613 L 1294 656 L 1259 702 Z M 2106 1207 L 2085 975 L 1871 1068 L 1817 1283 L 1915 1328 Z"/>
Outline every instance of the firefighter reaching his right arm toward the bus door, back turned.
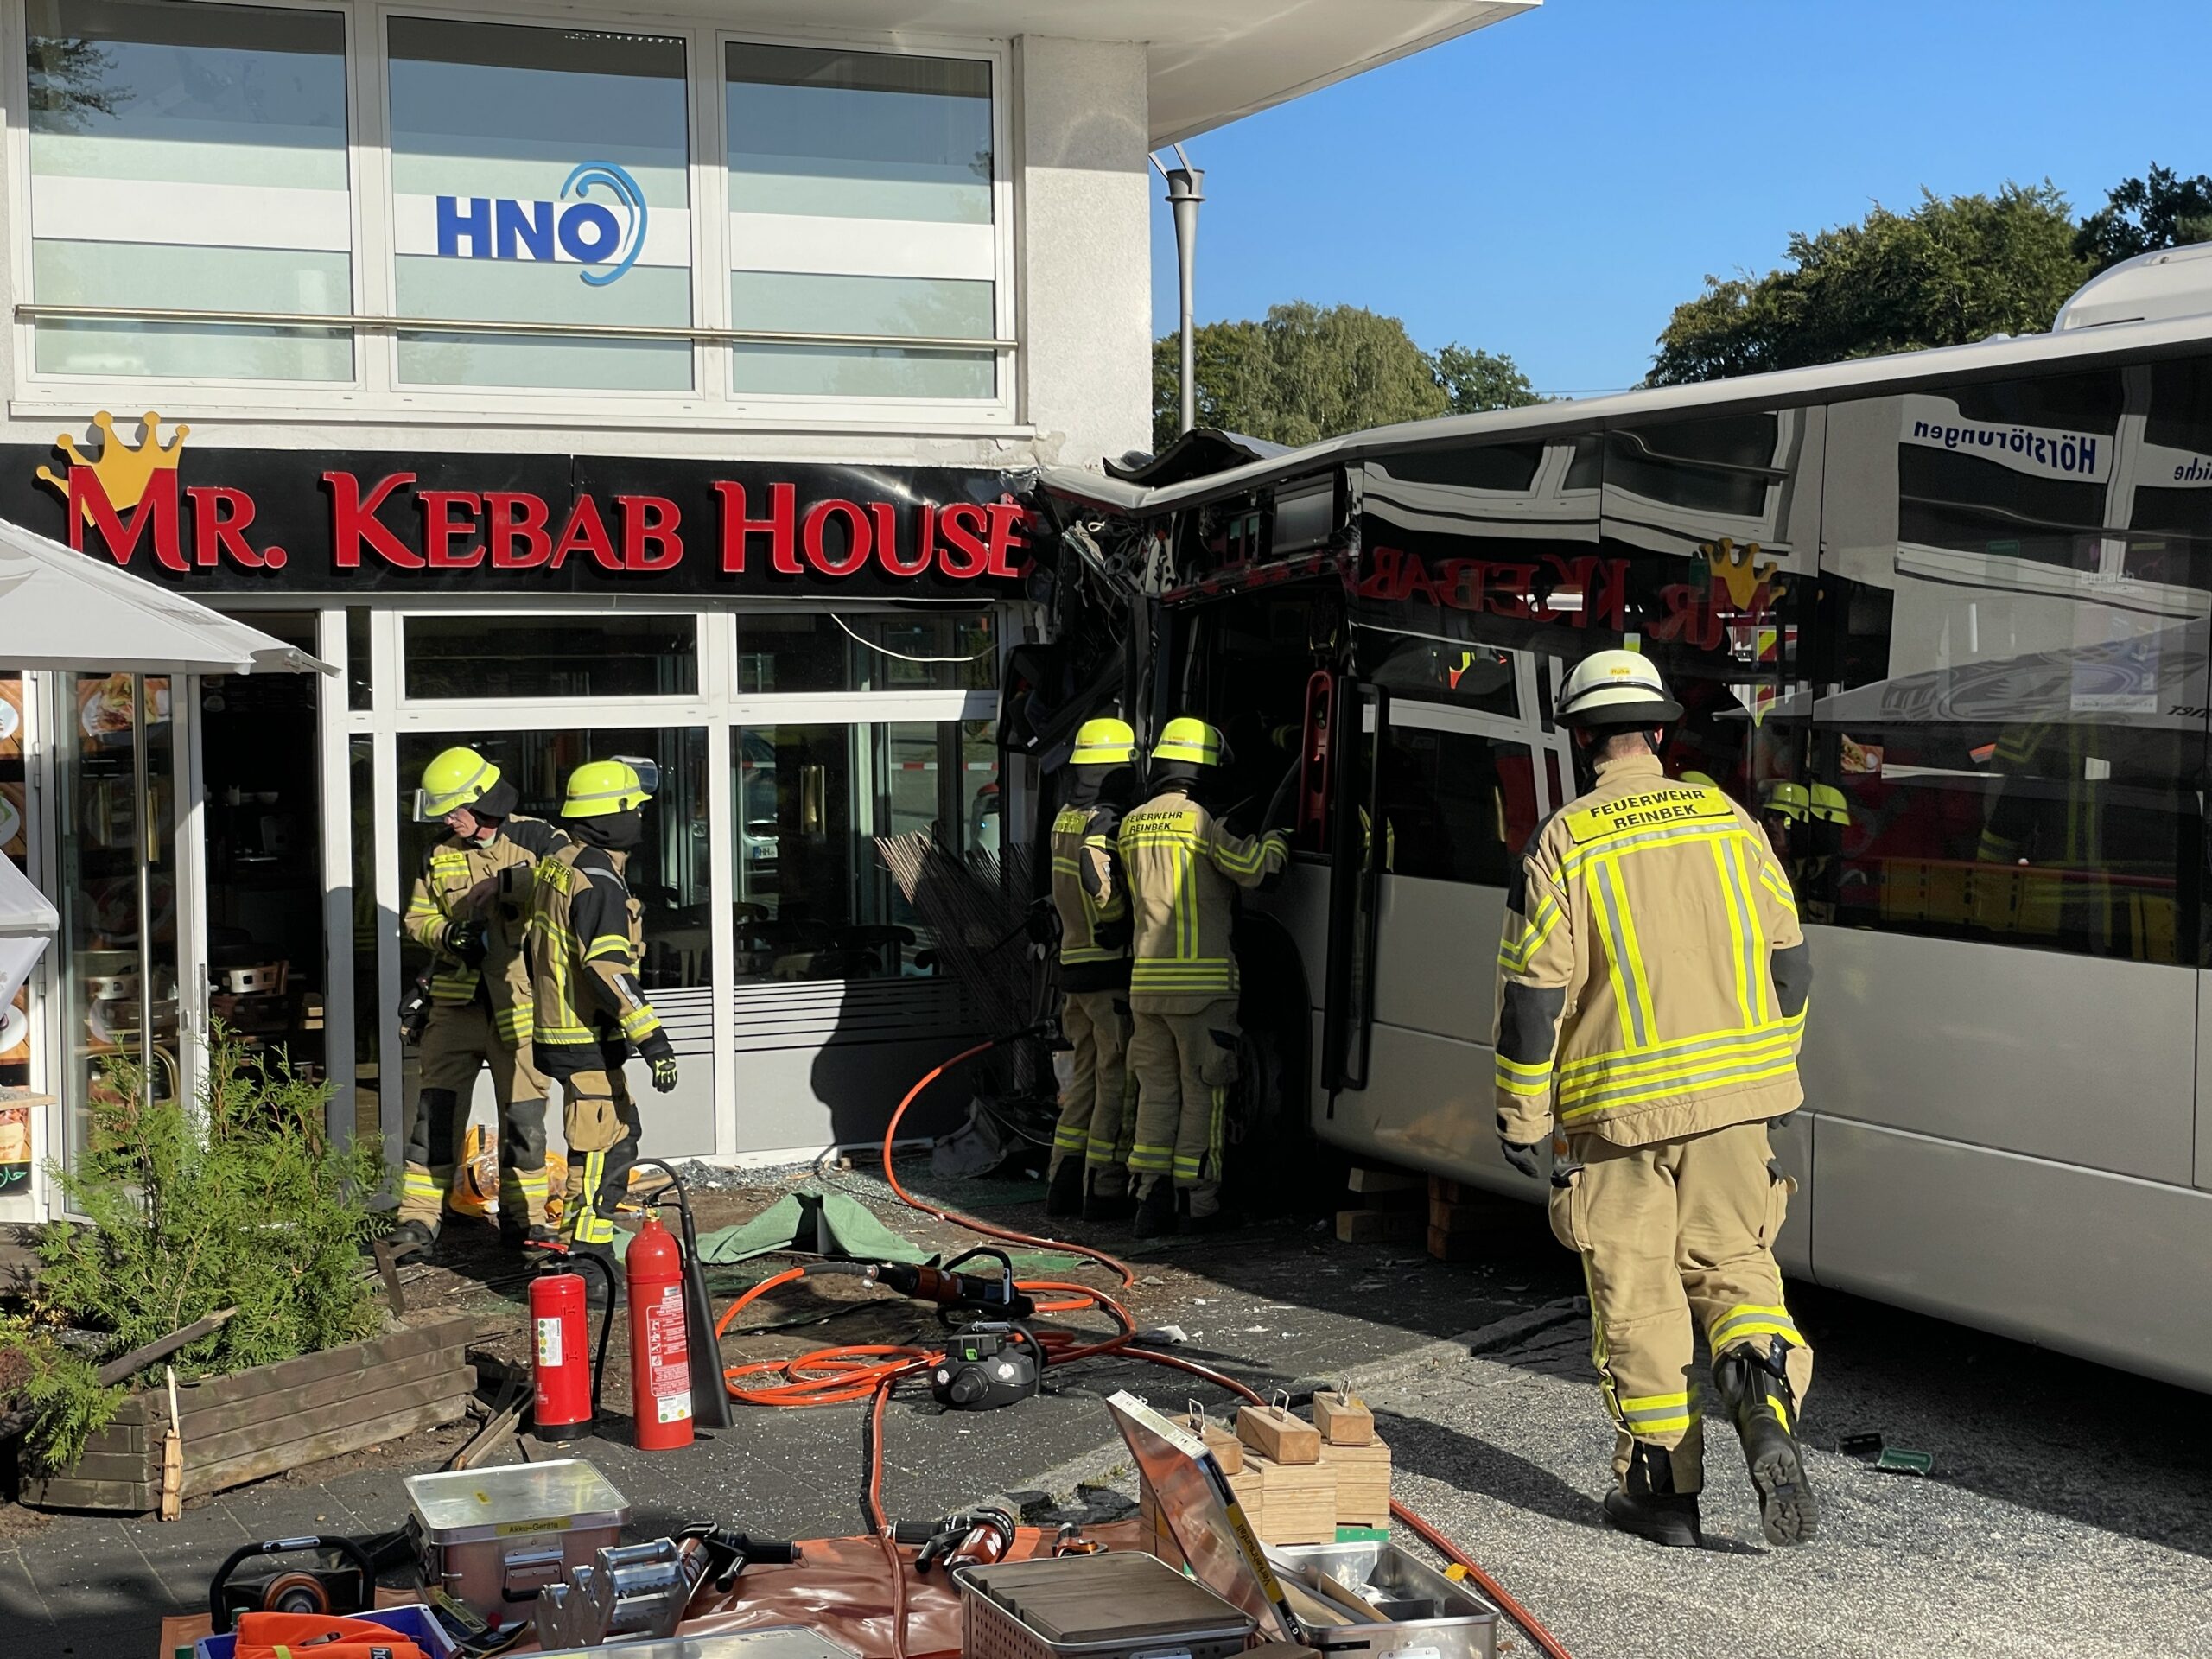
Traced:
<path fill-rule="evenodd" d="M 1274 883 L 1290 860 L 1281 834 L 1234 836 L 1208 812 L 1203 796 L 1225 759 L 1221 732 L 1206 721 L 1168 721 L 1152 748 L 1152 799 L 1121 818 L 1135 927 L 1128 1172 L 1139 1239 L 1221 1225 L 1223 1119 L 1237 1082 L 1237 889 Z"/>

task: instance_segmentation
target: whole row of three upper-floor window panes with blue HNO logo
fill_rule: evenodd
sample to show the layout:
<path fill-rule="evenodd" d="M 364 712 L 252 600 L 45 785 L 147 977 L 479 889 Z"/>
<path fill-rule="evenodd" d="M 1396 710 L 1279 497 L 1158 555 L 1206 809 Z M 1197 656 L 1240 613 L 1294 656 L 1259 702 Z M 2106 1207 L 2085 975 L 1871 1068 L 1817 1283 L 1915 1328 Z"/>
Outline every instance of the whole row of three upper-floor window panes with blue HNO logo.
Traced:
<path fill-rule="evenodd" d="M 984 51 L 24 7 L 33 376 L 1009 409 Z"/>

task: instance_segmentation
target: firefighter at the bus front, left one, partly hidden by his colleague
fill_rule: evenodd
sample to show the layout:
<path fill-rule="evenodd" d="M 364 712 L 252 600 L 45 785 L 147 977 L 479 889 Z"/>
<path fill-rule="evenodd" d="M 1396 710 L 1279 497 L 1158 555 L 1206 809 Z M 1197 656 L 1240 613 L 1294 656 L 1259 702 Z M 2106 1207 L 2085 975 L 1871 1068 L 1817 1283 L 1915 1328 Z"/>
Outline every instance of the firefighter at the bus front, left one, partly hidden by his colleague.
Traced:
<path fill-rule="evenodd" d="M 1115 1221 L 1128 1214 L 1124 1110 L 1128 1068 L 1128 889 L 1121 814 L 1135 787 L 1137 734 L 1128 721 L 1084 721 L 1068 757 L 1068 787 L 1053 818 L 1053 909 L 1060 914 L 1060 1031 L 1068 1086 L 1053 1130 L 1044 1212 Z"/>

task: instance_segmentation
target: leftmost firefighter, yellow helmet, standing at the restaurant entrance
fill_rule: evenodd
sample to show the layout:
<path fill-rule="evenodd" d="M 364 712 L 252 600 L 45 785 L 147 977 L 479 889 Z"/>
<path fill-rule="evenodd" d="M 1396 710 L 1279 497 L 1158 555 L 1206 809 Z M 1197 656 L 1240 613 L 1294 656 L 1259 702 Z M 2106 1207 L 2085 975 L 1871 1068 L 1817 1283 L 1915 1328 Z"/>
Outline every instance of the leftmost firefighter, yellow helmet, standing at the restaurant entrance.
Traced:
<path fill-rule="evenodd" d="M 546 1084 L 531 1064 L 531 980 L 522 962 L 531 865 L 566 845 L 515 812 L 515 785 L 471 748 L 422 768 L 416 818 L 445 823 L 422 856 L 403 927 L 431 953 L 429 1015 L 418 1044 L 420 1095 L 400 1177 L 398 1254 L 438 1241 L 476 1075 L 491 1066 L 500 1106 L 500 1237 L 546 1245 Z"/>

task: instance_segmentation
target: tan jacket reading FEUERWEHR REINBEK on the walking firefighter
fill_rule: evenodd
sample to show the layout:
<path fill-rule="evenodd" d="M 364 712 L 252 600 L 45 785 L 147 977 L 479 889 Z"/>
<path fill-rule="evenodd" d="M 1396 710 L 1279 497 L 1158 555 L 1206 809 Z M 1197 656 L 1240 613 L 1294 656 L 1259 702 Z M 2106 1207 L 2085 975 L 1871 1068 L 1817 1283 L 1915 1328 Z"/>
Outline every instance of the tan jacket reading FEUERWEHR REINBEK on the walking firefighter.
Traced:
<path fill-rule="evenodd" d="M 1765 834 L 1657 757 L 1531 838 L 1498 947 L 1498 1133 L 1553 1124 L 1617 1146 L 1701 1135 L 1803 1102 L 1812 958 Z"/>

